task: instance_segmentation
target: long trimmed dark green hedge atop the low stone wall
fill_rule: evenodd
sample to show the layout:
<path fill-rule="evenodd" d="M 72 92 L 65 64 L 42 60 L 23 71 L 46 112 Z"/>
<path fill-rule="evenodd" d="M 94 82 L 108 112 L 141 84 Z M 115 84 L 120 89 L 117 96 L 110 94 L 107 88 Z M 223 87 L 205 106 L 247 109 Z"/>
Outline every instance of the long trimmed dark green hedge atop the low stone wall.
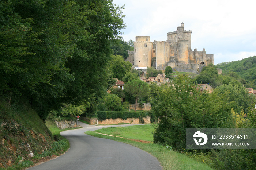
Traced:
<path fill-rule="evenodd" d="M 98 119 L 100 121 L 105 120 L 105 119 L 117 119 L 117 118 L 121 118 L 123 120 L 126 120 L 127 118 L 142 118 L 142 117 L 147 117 L 148 115 L 151 115 L 151 111 L 131 111 L 131 112 L 127 112 L 127 111 L 121 111 L 121 112 L 117 112 L 117 111 L 98 111 L 97 112 L 97 116 Z"/>

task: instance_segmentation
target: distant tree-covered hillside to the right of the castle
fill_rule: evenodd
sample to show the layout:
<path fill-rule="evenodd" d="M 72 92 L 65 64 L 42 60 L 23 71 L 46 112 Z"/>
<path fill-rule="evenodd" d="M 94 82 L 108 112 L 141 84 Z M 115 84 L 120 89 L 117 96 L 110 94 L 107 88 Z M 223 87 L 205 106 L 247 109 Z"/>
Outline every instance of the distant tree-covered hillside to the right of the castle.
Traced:
<path fill-rule="evenodd" d="M 256 56 L 239 61 L 223 62 L 216 65 L 223 73 L 235 72 L 248 83 L 247 88 L 256 88 Z"/>

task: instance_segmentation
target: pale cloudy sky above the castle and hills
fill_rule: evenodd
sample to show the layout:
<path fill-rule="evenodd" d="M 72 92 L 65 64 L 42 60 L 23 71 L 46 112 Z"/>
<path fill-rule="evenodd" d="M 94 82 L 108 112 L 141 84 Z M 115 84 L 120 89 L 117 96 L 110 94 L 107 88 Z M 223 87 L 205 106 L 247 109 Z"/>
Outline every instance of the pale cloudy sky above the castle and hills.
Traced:
<path fill-rule="evenodd" d="M 166 41 L 184 23 L 191 30 L 191 49 L 214 54 L 214 64 L 256 55 L 255 0 L 113 0 L 125 5 L 124 41 L 150 36 Z"/>

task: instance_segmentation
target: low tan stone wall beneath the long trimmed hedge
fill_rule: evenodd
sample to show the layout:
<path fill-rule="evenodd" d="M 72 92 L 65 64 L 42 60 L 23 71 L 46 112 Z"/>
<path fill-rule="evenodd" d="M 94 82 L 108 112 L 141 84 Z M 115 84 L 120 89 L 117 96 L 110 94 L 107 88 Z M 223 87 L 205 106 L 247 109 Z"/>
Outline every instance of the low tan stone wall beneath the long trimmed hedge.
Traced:
<path fill-rule="evenodd" d="M 150 124 L 150 117 L 147 116 L 146 118 L 142 118 L 144 120 L 144 124 Z M 97 123 L 97 118 L 91 118 L 90 119 L 90 124 L 96 124 Z M 103 121 L 98 120 L 98 124 L 106 125 L 106 124 L 118 124 L 118 123 L 129 123 L 129 124 L 140 124 L 139 118 L 127 118 L 126 120 L 123 120 L 121 118 L 117 119 L 106 119 Z"/>

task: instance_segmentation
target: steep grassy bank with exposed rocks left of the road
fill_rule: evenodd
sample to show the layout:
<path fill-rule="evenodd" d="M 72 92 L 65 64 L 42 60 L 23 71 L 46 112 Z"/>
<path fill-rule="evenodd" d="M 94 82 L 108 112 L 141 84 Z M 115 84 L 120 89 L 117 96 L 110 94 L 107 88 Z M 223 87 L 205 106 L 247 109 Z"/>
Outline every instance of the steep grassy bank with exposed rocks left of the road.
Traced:
<path fill-rule="evenodd" d="M 53 149 L 51 132 L 28 103 L 10 105 L 0 100 L 0 169 L 33 165 Z"/>

